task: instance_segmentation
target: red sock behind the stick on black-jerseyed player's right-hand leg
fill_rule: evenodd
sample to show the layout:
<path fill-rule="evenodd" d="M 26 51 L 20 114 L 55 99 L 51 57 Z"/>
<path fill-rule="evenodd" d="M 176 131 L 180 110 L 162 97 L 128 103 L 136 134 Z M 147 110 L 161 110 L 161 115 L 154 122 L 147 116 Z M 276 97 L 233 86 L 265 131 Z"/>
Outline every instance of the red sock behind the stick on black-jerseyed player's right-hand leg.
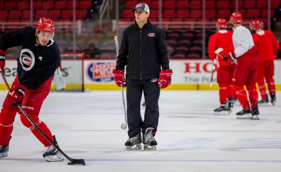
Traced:
<path fill-rule="evenodd" d="M 46 126 L 46 124 L 44 122 L 41 122 L 39 125 L 37 125 L 42 131 L 43 133 L 50 139 L 52 140 L 52 142 L 54 142 L 54 138 L 52 136 L 51 131 L 49 130 L 49 128 Z M 39 133 L 39 131 L 34 127 L 30 127 L 31 132 L 35 135 L 35 137 L 45 146 L 48 147 L 51 144 L 43 137 L 42 134 Z"/>

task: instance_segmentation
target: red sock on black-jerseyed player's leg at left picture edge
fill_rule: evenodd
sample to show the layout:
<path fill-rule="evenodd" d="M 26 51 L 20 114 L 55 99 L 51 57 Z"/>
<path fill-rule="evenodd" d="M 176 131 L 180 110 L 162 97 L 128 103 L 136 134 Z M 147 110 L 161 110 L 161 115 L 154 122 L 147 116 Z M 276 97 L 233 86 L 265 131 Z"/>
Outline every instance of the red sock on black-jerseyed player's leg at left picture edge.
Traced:
<path fill-rule="evenodd" d="M 13 131 L 13 123 L 15 121 L 16 111 L 1 109 L 0 113 L 0 145 L 5 146 L 9 143 L 11 133 Z"/>

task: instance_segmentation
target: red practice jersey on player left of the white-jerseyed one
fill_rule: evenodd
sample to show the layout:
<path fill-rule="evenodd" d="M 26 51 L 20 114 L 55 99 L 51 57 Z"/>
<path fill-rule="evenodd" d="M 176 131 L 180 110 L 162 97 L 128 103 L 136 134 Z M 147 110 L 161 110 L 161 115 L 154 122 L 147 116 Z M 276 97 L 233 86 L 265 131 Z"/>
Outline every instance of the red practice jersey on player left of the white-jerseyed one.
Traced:
<path fill-rule="evenodd" d="M 214 52 L 217 48 L 223 48 L 223 51 L 220 52 L 221 55 L 226 55 L 230 51 L 234 51 L 234 46 L 232 42 L 232 32 L 227 30 L 221 30 L 213 34 L 209 39 L 208 44 L 208 53 L 209 57 L 213 60 L 217 58 L 220 66 L 230 65 L 229 63 L 222 60 L 221 56 L 217 56 Z"/>

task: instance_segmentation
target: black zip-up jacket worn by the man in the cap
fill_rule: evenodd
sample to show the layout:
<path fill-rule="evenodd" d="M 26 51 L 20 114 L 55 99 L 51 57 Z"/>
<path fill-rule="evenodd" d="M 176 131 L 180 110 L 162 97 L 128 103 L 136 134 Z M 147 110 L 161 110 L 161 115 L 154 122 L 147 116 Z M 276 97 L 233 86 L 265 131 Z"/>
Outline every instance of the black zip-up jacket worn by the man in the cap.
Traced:
<path fill-rule="evenodd" d="M 126 66 L 127 65 L 127 66 Z M 116 70 L 124 70 L 126 79 L 158 78 L 162 69 L 169 69 L 164 32 L 150 21 L 140 29 L 135 24 L 123 31 Z"/>

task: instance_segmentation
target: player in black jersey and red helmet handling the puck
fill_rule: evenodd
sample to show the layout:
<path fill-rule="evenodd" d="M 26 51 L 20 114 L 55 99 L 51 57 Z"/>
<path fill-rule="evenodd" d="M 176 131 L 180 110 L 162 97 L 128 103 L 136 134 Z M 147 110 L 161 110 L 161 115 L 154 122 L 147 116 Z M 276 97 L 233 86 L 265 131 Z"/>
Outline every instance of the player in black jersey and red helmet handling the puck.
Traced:
<path fill-rule="evenodd" d="M 13 131 L 13 122 L 18 112 L 24 126 L 29 128 L 37 139 L 47 147 L 43 157 L 48 162 L 63 161 L 64 158 L 52 146 L 19 110 L 19 102 L 29 117 L 57 144 L 49 128 L 40 121 L 38 115 L 44 99 L 49 94 L 54 72 L 59 66 L 59 47 L 54 42 L 54 24 L 50 18 L 40 18 L 35 27 L 23 27 L 0 37 L 0 68 L 4 71 L 7 48 L 22 46 L 16 76 L 11 93 L 8 93 L 0 113 L 0 158 L 8 156 L 9 140 Z"/>

